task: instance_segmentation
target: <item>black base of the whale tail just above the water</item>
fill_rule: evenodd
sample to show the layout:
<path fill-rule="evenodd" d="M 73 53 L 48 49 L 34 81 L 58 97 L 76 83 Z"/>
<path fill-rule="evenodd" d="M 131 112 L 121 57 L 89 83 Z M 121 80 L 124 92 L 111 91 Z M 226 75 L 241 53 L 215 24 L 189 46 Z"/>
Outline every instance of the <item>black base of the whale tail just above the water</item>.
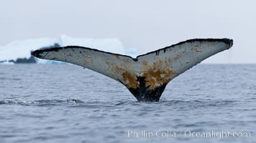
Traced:
<path fill-rule="evenodd" d="M 146 87 L 145 79 L 145 77 L 137 77 L 137 82 L 140 83 L 140 87 L 137 89 L 129 88 L 129 91 L 139 102 L 159 102 L 167 84 L 163 84 L 155 89 L 150 89 L 150 87 Z"/>

